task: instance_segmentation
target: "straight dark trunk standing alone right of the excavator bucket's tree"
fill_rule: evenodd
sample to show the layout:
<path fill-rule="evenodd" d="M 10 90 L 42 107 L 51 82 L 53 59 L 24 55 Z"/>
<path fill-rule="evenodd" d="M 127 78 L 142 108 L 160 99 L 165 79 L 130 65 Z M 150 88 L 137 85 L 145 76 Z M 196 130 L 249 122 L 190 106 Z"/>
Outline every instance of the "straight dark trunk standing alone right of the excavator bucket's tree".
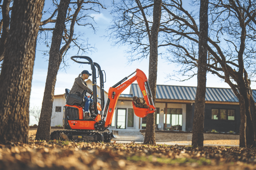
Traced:
<path fill-rule="evenodd" d="M 192 146 L 204 146 L 204 104 L 207 72 L 208 0 L 201 0 L 199 14 L 198 73 Z"/>

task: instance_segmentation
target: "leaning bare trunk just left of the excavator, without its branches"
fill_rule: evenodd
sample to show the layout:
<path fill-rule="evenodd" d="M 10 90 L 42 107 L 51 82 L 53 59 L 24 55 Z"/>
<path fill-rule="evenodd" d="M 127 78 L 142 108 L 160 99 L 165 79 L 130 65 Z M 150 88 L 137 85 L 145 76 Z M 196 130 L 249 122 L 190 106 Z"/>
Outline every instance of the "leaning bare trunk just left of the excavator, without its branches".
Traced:
<path fill-rule="evenodd" d="M 60 0 L 60 4 L 58 6 L 58 15 L 55 23 L 55 29 L 52 32 L 52 43 L 49 51 L 49 65 L 44 89 L 42 109 L 35 137 L 37 140 L 50 139 L 54 88 L 62 59 L 62 54 L 60 54 L 60 45 L 65 28 L 65 20 L 69 3 L 70 0 Z"/>

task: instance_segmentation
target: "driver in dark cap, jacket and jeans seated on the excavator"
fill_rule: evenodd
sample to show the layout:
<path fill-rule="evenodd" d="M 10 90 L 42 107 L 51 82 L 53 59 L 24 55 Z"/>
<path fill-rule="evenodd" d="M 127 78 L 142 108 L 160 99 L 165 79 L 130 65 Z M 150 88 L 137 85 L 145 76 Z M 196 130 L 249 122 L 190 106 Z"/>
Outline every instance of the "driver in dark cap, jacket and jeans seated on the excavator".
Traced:
<path fill-rule="evenodd" d="M 79 74 L 78 77 L 75 78 L 74 85 L 69 93 L 77 94 L 77 92 L 80 92 L 80 94 L 81 94 L 81 93 L 83 93 L 84 90 L 88 90 L 87 93 L 92 95 L 92 90 L 89 87 L 87 87 L 87 84 L 84 81 L 84 80 L 88 79 L 90 75 L 92 75 L 92 74 L 90 74 L 87 70 L 83 70 L 81 72 L 81 74 Z M 85 100 L 85 102 L 84 102 L 84 119 L 89 120 L 89 119 L 92 119 L 89 115 L 89 106 L 93 100 L 90 98 L 87 98 L 86 96 L 84 97 L 84 100 Z"/>

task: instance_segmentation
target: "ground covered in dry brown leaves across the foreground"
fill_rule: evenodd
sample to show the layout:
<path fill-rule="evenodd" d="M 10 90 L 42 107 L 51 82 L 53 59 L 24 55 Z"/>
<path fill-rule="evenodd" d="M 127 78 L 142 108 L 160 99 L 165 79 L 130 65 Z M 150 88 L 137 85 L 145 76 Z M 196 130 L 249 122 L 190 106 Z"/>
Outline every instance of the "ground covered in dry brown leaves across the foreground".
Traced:
<path fill-rule="evenodd" d="M 256 169 L 256 149 L 35 141 L 0 145 L 1 170 Z"/>

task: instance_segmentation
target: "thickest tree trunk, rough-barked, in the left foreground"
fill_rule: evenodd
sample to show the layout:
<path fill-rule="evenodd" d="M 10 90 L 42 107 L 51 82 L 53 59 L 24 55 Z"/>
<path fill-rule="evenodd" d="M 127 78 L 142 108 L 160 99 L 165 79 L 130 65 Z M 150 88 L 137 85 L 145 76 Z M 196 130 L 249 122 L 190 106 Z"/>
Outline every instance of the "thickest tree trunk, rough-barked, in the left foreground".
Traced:
<path fill-rule="evenodd" d="M 29 96 L 44 0 L 14 0 L 0 74 L 0 142 L 28 143 Z M 35 10 L 36 9 L 36 10 Z"/>

